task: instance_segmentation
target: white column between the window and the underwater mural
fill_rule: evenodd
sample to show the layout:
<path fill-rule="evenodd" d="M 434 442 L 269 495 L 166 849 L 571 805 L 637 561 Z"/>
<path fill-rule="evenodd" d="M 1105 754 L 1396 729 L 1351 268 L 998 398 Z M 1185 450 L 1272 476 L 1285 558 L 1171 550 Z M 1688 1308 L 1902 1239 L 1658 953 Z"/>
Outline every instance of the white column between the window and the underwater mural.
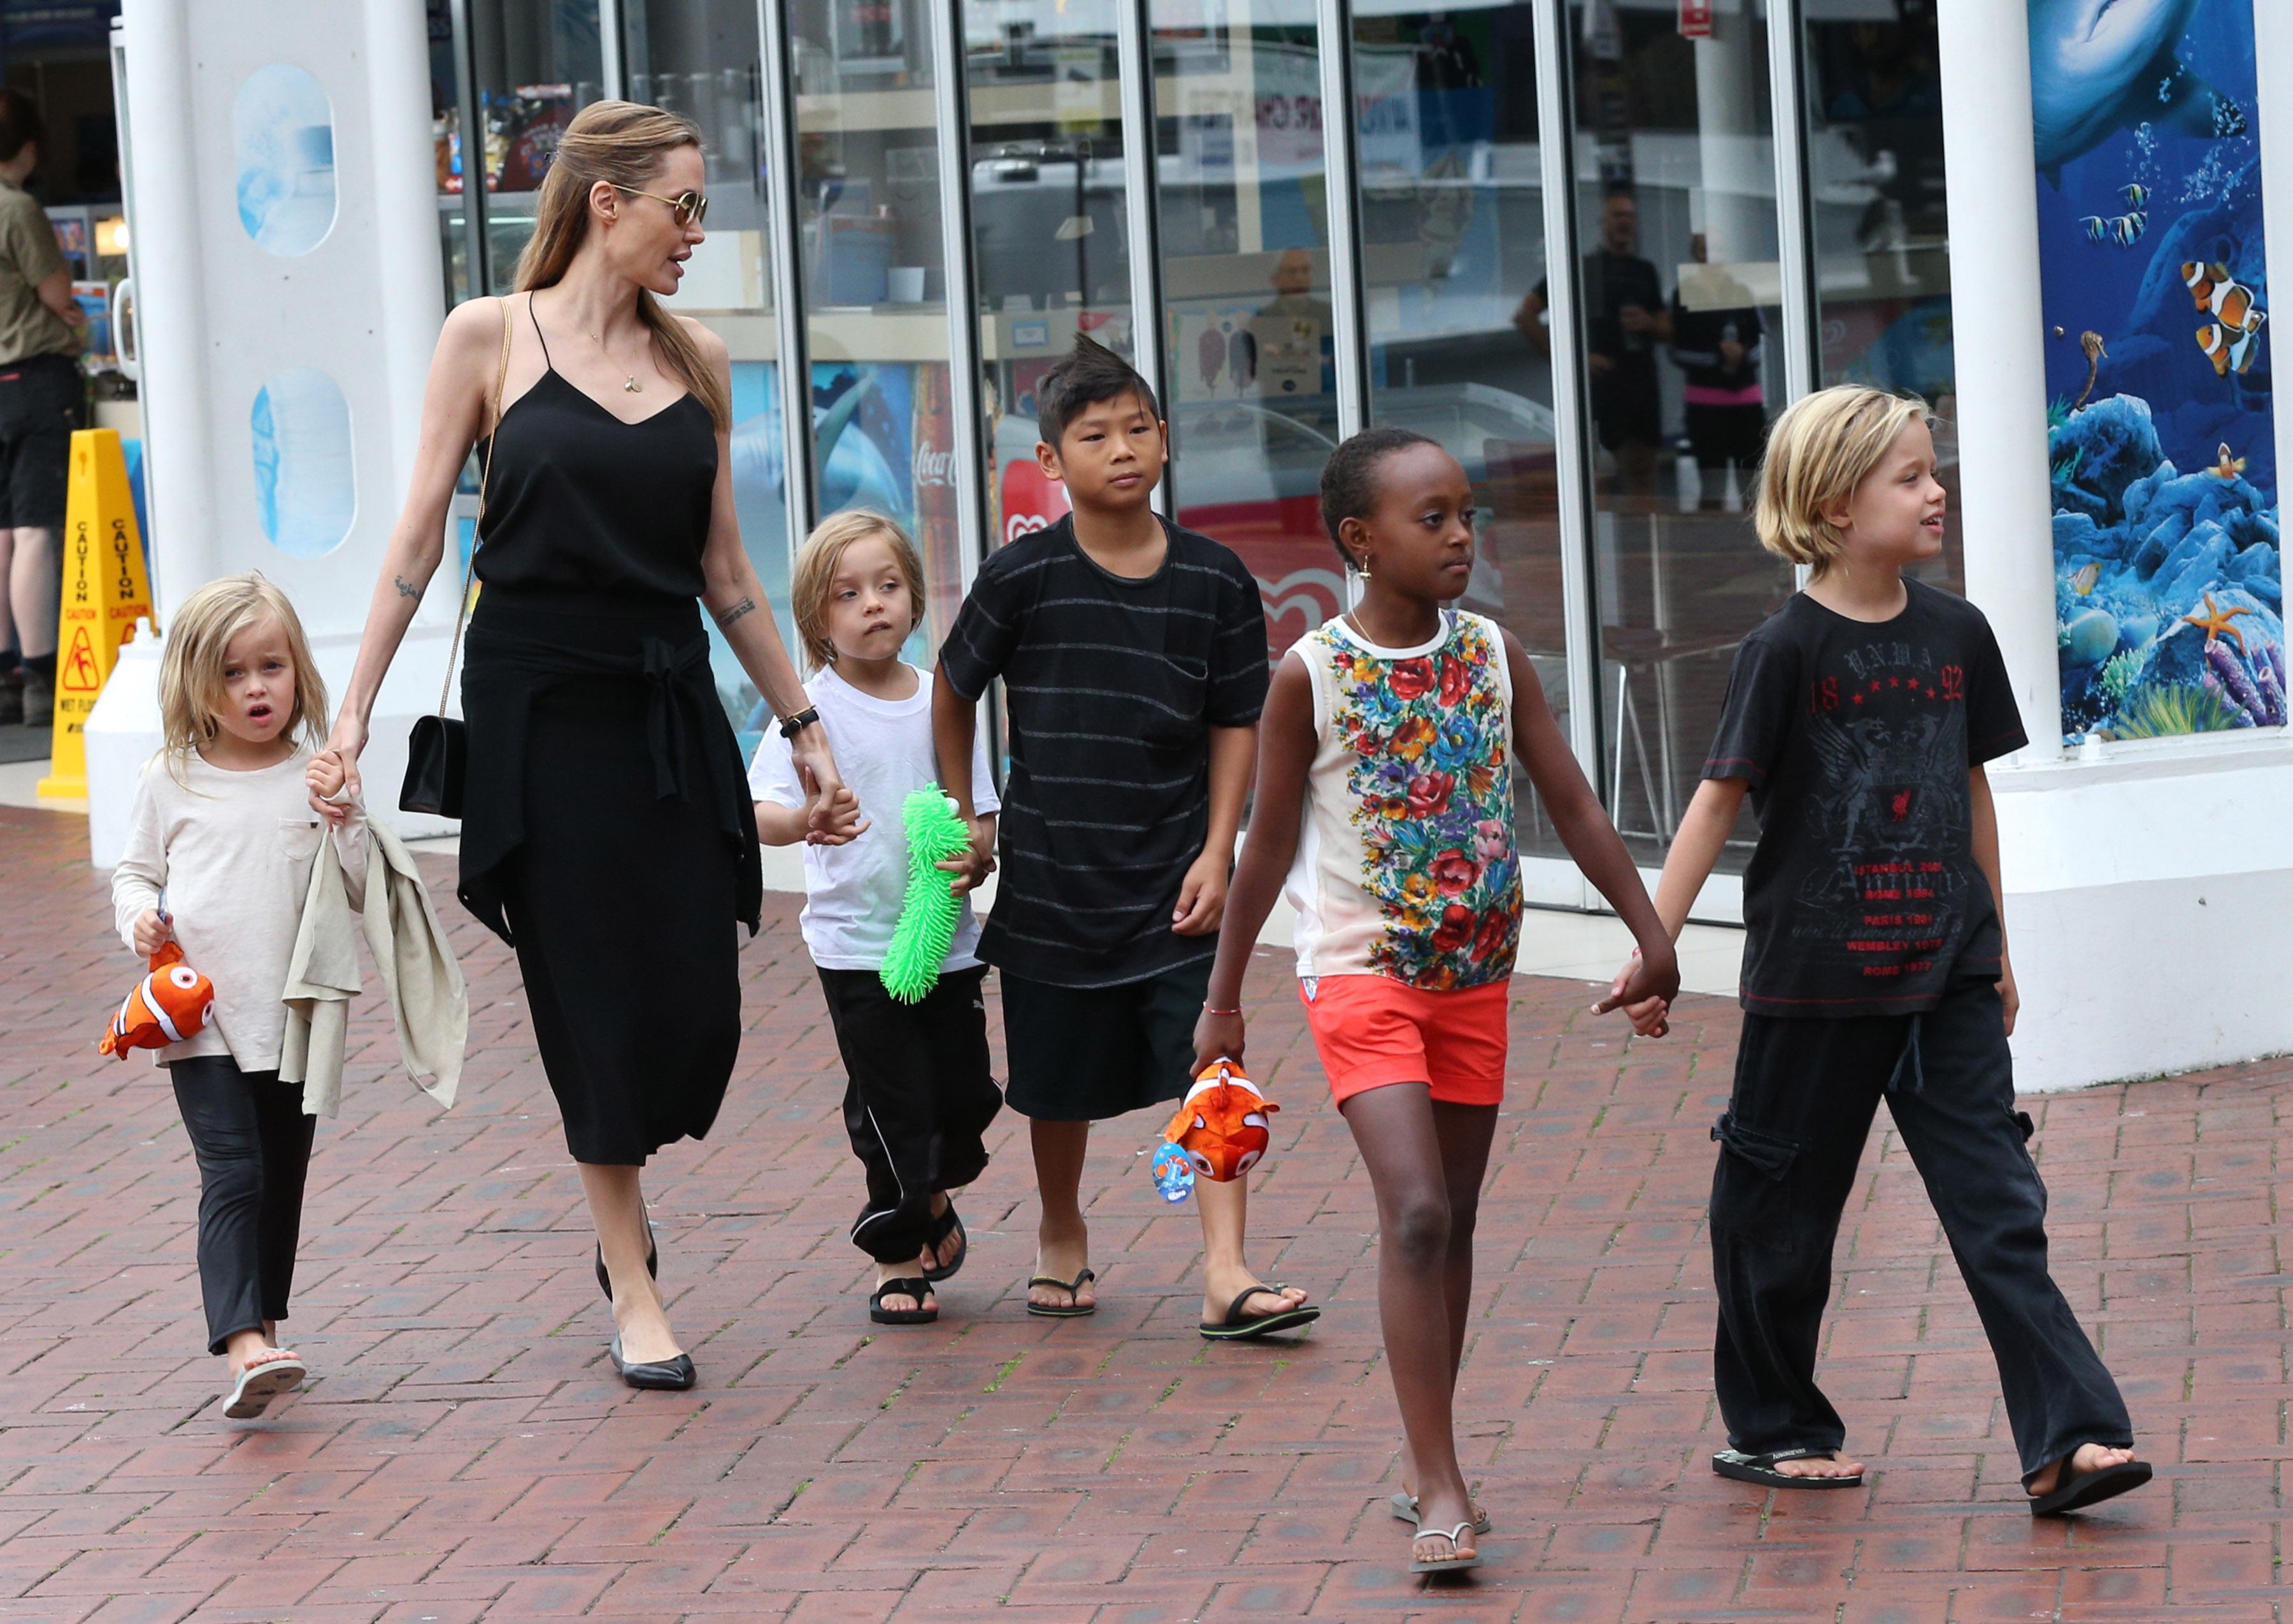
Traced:
<path fill-rule="evenodd" d="M 1942 154 L 1951 209 L 1951 344 L 1967 596 L 1997 631 L 2025 759 L 2061 741 L 2055 534 L 2045 459 L 2045 312 L 2038 298 L 2029 14 L 1940 0 Z"/>

